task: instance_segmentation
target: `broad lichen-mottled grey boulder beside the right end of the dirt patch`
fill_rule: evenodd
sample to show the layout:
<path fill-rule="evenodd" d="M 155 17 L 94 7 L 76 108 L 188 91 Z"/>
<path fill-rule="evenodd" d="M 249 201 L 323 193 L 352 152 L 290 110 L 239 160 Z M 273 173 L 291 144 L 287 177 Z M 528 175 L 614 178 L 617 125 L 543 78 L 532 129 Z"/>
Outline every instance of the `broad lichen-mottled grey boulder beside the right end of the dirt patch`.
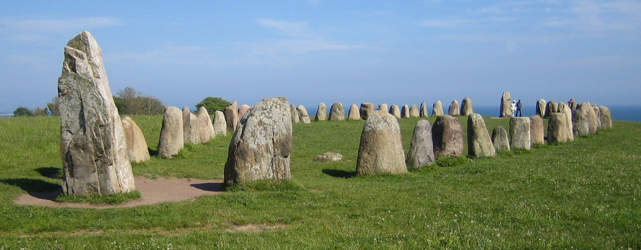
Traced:
<path fill-rule="evenodd" d="M 225 163 L 224 186 L 291 178 L 292 118 L 285 97 L 265 98 L 238 122 Z"/>

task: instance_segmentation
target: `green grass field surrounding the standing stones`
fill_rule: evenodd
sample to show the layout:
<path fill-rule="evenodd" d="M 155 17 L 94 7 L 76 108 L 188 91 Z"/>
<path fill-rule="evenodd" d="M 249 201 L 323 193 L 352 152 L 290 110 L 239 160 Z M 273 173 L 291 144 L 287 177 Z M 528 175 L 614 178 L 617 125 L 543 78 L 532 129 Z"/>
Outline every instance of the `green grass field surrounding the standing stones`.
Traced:
<path fill-rule="evenodd" d="M 132 118 L 155 150 L 162 117 Z M 399 120 L 406 151 L 418 120 Z M 508 119 L 485 121 L 508 128 Z M 15 205 L 59 187 L 60 122 L 1 118 L 0 249 L 641 249 L 640 122 L 453 167 L 354 176 L 362 127 L 294 124 L 291 168 L 302 190 L 97 210 Z M 134 174 L 222 178 L 230 138 L 152 157 Z M 313 161 L 327 151 L 344 160 Z"/>

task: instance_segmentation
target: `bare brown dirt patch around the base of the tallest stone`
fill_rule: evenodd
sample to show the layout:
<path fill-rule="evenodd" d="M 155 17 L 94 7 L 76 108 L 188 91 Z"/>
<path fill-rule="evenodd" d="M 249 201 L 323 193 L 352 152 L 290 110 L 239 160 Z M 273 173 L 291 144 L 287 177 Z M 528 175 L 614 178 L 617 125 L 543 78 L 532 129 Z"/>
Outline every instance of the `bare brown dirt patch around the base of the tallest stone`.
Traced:
<path fill-rule="evenodd" d="M 190 201 L 206 194 L 221 194 L 221 179 L 188 179 L 188 178 L 158 178 L 134 177 L 136 190 L 142 197 L 127 203 L 87 204 L 87 203 L 56 203 L 54 199 L 62 192 L 62 187 L 51 192 L 29 192 L 15 200 L 19 205 L 54 206 L 70 208 L 130 208 L 146 204 L 156 204 L 168 201 Z"/>

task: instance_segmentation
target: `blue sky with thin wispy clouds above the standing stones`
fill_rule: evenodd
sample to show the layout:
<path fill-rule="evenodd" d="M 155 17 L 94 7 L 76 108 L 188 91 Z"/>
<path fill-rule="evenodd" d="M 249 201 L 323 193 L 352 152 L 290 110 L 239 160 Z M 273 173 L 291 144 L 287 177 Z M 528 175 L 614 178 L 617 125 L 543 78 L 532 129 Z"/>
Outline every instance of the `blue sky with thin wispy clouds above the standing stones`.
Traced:
<path fill-rule="evenodd" d="M 641 1 L 2 1 L 0 113 L 57 96 L 89 31 L 110 87 L 169 106 L 431 104 L 470 97 L 641 106 Z"/>

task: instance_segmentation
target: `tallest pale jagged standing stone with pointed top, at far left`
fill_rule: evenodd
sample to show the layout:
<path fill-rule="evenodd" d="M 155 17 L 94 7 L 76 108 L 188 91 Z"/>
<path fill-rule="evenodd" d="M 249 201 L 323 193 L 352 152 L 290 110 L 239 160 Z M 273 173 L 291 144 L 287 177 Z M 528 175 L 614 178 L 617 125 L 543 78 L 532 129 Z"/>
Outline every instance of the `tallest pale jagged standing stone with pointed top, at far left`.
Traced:
<path fill-rule="evenodd" d="M 69 40 L 64 54 L 58 78 L 63 193 L 103 196 L 135 190 L 100 47 L 83 31 Z"/>

